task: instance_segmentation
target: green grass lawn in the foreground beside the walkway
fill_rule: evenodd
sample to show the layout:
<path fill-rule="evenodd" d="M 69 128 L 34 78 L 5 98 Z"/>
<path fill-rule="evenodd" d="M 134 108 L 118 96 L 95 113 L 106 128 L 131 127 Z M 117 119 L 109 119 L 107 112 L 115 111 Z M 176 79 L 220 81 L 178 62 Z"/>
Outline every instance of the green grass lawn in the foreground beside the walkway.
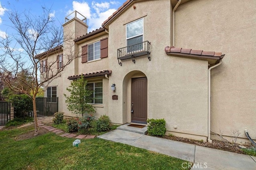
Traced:
<path fill-rule="evenodd" d="M 183 170 L 177 158 L 158 154 L 103 139 L 82 139 L 78 148 L 75 139 L 46 133 L 16 141 L 18 135 L 33 131 L 33 126 L 0 131 L 1 170 Z"/>

